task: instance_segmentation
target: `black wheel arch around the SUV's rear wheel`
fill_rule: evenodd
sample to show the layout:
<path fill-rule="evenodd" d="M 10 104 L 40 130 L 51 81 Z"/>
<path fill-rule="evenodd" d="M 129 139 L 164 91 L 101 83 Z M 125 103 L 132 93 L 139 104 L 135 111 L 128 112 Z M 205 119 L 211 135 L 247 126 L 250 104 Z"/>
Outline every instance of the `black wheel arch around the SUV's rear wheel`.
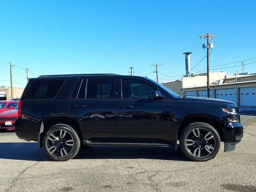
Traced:
<path fill-rule="evenodd" d="M 76 130 L 80 140 L 82 140 L 82 132 L 80 129 L 80 126 L 78 122 L 71 117 L 48 117 L 44 119 L 44 121 L 41 124 L 40 127 L 40 132 L 38 133 L 38 148 L 41 148 L 42 145 L 42 140 L 44 138 L 44 134 L 48 128 L 50 128 L 53 125 L 56 124 L 66 124 L 70 127 L 72 127 L 74 130 Z"/>

